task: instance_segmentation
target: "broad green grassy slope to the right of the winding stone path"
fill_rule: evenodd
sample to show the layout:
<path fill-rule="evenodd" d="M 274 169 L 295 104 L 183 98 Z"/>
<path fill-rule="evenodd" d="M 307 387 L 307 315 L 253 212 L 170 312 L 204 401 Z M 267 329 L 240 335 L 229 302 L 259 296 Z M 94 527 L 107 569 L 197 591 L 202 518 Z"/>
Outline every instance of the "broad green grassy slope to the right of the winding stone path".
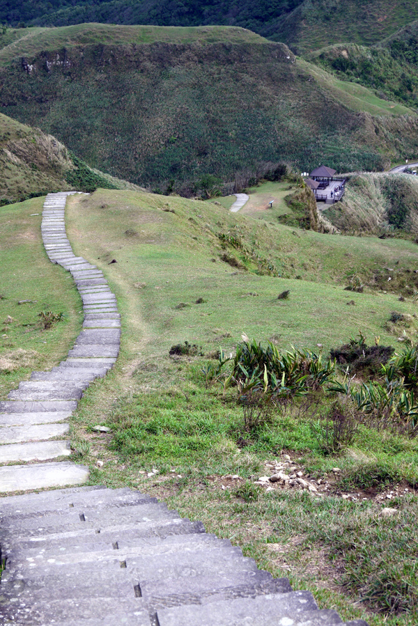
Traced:
<path fill-rule="evenodd" d="M 302 404 L 274 412 L 248 440 L 235 391 L 206 386 L 203 373 L 219 347 L 235 350 L 243 330 L 281 349 L 296 343 L 318 350 L 322 343 L 325 352 L 359 327 L 398 345 L 385 324 L 396 307 L 412 315 L 415 304 L 397 294 L 345 292 L 345 265 L 368 271 L 390 258 L 413 267 L 415 246 L 267 227 L 219 205 L 127 191 L 71 198 L 67 223 L 75 253 L 103 269 L 122 314 L 121 356 L 86 390 L 72 418 L 72 443 L 77 460 L 91 467 L 91 483 L 143 490 L 203 519 L 259 567 L 312 590 L 321 608 L 345 619 L 415 625 L 415 543 L 406 539 L 417 531 L 417 441 L 362 426 L 349 448 L 326 454 Z M 229 266 L 220 260 L 219 232 L 232 233 L 238 248 L 228 251 L 243 265 L 239 242 L 260 256 L 269 252 L 286 272 L 293 259 L 305 264 L 305 280 Z M 117 263 L 108 265 L 112 259 Z M 286 288 L 289 299 L 277 301 Z M 196 356 L 170 357 L 171 346 L 185 341 L 198 346 Z M 98 423 L 111 431 L 95 432 Z M 328 482 L 325 495 L 254 485 L 282 451 L 309 480 Z M 343 499 L 347 493 L 357 499 Z M 396 517 L 384 517 L 385 506 L 396 508 Z M 410 527 L 396 522 L 404 519 Z M 407 581 L 408 593 L 399 581 Z"/>

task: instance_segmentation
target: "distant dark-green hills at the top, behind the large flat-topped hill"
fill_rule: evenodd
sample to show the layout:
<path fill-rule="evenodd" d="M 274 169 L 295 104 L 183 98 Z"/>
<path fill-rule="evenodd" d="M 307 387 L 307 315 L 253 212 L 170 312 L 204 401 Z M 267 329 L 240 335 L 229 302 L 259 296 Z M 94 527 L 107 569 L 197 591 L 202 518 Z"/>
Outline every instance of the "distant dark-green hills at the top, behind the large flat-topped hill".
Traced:
<path fill-rule="evenodd" d="M 307 52 L 330 43 L 371 45 L 418 18 L 415 0 L 0 0 L 0 23 L 83 22 L 158 26 L 242 26 Z"/>

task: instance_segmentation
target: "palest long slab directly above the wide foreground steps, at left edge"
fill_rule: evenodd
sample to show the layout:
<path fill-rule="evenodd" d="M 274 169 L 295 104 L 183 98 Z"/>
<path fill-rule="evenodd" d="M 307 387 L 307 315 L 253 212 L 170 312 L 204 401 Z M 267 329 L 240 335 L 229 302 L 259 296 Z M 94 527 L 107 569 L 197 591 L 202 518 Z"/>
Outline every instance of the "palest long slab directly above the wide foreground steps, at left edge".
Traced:
<path fill-rule="evenodd" d="M 80 485 L 88 467 L 71 462 L 6 465 L 0 467 L 0 493 Z"/>

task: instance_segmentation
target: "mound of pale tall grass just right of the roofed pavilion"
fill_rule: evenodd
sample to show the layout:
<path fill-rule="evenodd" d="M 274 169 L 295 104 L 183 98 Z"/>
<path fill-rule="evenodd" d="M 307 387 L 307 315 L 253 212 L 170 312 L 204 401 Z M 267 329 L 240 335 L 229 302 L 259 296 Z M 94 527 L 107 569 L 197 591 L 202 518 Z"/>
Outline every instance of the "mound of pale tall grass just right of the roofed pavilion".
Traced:
<path fill-rule="evenodd" d="M 355 174 L 343 200 L 323 214 L 346 233 L 418 235 L 418 180 L 410 174 Z"/>

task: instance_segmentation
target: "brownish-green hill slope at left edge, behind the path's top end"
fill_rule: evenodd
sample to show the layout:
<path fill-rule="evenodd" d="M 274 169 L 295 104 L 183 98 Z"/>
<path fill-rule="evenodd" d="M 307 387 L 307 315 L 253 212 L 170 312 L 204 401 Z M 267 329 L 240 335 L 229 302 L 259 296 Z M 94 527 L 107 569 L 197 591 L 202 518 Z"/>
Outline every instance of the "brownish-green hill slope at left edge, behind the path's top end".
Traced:
<path fill-rule="evenodd" d="M 77 159 L 54 136 L 0 114 L 0 206 L 51 191 L 134 189 Z"/>

